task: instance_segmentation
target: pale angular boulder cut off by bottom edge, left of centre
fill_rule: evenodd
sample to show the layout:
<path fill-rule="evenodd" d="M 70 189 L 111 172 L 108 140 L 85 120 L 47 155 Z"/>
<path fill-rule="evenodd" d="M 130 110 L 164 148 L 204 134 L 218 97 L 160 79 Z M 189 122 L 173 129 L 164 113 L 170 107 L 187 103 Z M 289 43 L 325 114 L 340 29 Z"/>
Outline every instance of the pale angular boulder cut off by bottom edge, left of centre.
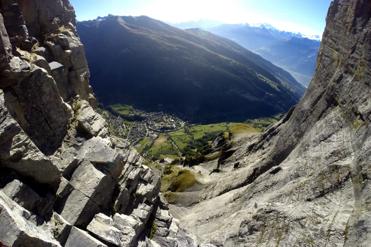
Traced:
<path fill-rule="evenodd" d="M 86 231 L 72 227 L 65 247 L 107 247 L 101 241 L 90 236 Z"/>

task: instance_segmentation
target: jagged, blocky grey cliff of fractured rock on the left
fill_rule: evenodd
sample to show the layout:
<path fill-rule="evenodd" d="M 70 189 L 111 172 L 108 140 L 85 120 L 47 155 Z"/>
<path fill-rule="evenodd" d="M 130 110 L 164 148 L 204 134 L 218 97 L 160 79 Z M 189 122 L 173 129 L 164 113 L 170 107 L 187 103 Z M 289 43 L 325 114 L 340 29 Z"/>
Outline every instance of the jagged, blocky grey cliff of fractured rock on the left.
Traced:
<path fill-rule="evenodd" d="M 69 1 L 1 0 L 0 32 L 0 242 L 197 246 L 94 111 Z"/>

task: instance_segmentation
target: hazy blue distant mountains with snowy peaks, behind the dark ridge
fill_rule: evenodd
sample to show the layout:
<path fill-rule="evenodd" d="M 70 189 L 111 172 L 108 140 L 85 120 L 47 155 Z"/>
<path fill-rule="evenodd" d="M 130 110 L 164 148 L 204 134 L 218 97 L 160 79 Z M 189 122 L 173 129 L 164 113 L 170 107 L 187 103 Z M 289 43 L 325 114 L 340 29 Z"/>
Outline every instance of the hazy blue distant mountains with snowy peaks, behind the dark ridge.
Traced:
<path fill-rule="evenodd" d="M 202 19 L 171 25 L 179 28 L 200 27 L 230 39 L 288 70 L 304 86 L 308 86 L 312 79 L 321 45 L 318 35 L 280 31 L 268 23 L 217 25 L 216 21 Z"/>

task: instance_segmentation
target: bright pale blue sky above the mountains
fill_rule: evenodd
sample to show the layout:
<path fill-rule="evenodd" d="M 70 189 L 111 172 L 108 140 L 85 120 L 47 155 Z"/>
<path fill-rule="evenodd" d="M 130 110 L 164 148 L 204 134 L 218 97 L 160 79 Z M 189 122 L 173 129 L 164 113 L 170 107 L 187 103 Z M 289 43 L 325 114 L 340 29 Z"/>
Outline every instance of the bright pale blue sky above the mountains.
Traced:
<path fill-rule="evenodd" d="M 205 18 L 224 23 L 269 23 L 285 31 L 319 34 L 331 0 L 70 0 L 79 21 L 108 14 L 146 15 L 178 23 Z"/>

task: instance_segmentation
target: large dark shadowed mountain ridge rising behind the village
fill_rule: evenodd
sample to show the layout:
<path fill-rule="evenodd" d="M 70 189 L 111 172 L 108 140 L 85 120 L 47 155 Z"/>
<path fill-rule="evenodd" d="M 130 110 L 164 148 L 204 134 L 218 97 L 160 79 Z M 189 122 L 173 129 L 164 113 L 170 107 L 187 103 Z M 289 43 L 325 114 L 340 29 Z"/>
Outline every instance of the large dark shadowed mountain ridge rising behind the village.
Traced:
<path fill-rule="evenodd" d="M 287 111 L 305 87 L 233 41 L 147 16 L 76 25 L 104 104 L 175 113 L 191 122 L 243 121 Z"/>

